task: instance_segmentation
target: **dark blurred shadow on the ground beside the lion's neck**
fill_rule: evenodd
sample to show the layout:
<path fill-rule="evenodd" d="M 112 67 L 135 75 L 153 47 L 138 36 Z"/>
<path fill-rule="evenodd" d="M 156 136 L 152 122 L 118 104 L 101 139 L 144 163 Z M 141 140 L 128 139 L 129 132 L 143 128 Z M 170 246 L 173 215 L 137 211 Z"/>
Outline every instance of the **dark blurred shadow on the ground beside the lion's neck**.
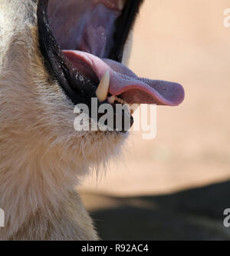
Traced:
<path fill-rule="evenodd" d="M 230 240 L 230 181 L 160 196 L 81 197 L 103 240 Z"/>

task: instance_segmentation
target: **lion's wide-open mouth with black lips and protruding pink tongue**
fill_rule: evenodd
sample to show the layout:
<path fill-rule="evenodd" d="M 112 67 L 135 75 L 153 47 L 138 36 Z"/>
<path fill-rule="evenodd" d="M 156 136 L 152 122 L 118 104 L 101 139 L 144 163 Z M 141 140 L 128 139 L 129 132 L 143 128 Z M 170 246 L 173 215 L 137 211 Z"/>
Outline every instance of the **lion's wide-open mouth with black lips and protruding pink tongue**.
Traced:
<path fill-rule="evenodd" d="M 41 50 L 48 68 L 74 104 L 90 105 L 90 98 L 96 95 L 100 103 L 110 104 L 117 98 L 129 104 L 172 106 L 183 101 L 181 85 L 139 78 L 121 64 L 126 39 L 142 2 L 39 1 Z M 104 88 L 98 89 L 99 84 Z"/>

